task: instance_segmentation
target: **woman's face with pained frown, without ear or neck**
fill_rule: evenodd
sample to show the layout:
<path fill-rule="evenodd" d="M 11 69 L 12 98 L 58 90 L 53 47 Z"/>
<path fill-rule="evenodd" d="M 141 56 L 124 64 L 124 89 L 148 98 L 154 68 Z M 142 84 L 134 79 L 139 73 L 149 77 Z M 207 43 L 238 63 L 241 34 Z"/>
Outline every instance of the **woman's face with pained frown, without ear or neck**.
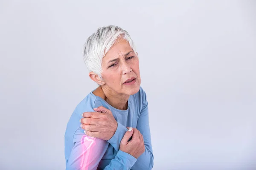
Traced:
<path fill-rule="evenodd" d="M 103 57 L 102 78 L 104 86 L 117 94 L 133 95 L 140 90 L 139 58 L 126 40 L 119 40 Z"/>

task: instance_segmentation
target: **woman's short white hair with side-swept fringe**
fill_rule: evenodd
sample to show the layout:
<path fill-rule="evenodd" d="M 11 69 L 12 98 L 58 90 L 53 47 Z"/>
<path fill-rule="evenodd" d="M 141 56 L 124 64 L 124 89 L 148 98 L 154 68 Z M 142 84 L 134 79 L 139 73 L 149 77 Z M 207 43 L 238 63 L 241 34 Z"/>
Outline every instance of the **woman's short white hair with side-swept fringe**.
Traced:
<path fill-rule="evenodd" d="M 100 27 L 88 37 L 84 45 L 84 62 L 89 71 L 94 72 L 102 79 L 102 58 L 107 54 L 110 48 L 116 43 L 118 38 L 126 40 L 135 51 L 134 42 L 130 35 L 124 29 L 118 26 Z"/>

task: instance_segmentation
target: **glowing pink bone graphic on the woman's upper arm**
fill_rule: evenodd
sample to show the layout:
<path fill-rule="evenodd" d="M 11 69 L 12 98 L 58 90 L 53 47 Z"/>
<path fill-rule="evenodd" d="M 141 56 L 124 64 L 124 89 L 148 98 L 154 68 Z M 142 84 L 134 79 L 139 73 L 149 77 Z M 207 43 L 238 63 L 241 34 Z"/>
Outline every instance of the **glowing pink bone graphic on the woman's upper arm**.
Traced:
<path fill-rule="evenodd" d="M 88 170 L 88 166 L 90 164 L 88 160 L 90 160 L 91 157 L 90 150 L 93 145 L 95 145 L 95 140 L 96 138 L 90 136 L 83 136 L 81 139 L 81 144 L 83 146 L 83 157 L 80 164 L 81 170 Z"/>

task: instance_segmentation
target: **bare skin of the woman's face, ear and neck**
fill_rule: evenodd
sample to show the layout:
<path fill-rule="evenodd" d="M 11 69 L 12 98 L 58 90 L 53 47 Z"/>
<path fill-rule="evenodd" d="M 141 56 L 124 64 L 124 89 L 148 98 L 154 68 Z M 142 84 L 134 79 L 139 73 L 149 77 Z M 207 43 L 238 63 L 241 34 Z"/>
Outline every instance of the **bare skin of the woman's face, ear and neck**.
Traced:
<path fill-rule="evenodd" d="M 110 62 L 113 59 L 117 60 Z M 126 40 L 119 39 L 102 59 L 103 80 L 93 72 L 89 76 L 101 85 L 94 94 L 99 94 L 114 108 L 125 110 L 129 96 L 140 90 L 139 58 Z M 132 77 L 136 78 L 134 85 L 123 84 Z"/>

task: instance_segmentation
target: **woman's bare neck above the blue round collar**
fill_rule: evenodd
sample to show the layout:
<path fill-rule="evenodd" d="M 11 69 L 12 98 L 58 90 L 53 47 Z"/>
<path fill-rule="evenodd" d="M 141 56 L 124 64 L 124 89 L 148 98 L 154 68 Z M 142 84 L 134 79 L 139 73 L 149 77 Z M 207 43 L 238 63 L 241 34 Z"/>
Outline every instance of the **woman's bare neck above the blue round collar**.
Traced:
<path fill-rule="evenodd" d="M 128 107 L 129 95 L 120 95 L 105 86 L 99 86 L 93 94 L 104 99 L 108 104 L 119 110 L 126 110 Z"/>

